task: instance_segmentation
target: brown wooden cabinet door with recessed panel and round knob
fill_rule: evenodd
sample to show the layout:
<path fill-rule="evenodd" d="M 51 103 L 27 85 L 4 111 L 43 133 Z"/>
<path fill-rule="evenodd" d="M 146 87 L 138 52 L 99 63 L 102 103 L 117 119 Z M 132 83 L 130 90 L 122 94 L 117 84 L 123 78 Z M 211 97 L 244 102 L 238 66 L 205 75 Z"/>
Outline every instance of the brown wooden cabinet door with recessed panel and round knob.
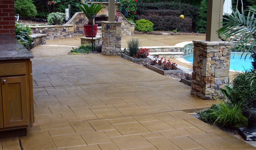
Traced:
<path fill-rule="evenodd" d="M 26 76 L 1 78 L 4 128 L 28 125 Z"/>

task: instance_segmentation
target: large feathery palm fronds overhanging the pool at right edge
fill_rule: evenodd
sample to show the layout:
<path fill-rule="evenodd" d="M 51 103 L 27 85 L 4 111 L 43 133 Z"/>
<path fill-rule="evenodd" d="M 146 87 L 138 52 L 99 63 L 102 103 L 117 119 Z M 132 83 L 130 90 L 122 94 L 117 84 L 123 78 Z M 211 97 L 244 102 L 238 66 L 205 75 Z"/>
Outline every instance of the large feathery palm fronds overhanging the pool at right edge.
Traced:
<path fill-rule="evenodd" d="M 219 30 L 218 35 L 225 35 L 224 38 L 231 38 L 234 41 L 236 38 L 241 37 L 239 42 L 236 42 L 236 49 L 238 51 L 244 51 L 251 53 L 253 58 L 253 69 L 256 69 L 256 51 L 254 46 L 256 45 L 256 5 L 249 6 L 247 10 L 242 9 L 242 14 L 238 11 L 226 18 L 223 18 L 223 24 Z M 245 13 L 248 15 L 246 16 Z M 249 44 L 249 42 L 251 44 Z"/>

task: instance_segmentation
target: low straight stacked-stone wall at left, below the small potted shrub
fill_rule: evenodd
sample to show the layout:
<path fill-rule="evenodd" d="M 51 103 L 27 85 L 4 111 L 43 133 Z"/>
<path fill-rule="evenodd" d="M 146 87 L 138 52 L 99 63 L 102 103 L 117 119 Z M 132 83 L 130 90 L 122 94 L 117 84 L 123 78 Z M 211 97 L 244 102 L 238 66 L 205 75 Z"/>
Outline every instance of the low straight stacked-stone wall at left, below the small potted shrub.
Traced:
<path fill-rule="evenodd" d="M 66 39 L 74 37 L 73 25 L 30 26 L 32 33 L 46 34 L 46 39 Z"/>

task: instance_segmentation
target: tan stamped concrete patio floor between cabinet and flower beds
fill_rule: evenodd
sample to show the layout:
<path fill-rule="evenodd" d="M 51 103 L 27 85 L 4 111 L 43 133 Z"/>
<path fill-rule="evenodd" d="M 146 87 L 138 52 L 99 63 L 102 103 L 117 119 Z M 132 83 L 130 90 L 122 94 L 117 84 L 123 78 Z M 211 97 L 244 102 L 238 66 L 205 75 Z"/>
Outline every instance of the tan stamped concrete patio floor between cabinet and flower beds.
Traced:
<path fill-rule="evenodd" d="M 189 86 L 118 56 L 70 49 L 31 50 L 34 127 L 2 139 L 0 150 L 255 149 L 188 114 L 215 102 Z"/>

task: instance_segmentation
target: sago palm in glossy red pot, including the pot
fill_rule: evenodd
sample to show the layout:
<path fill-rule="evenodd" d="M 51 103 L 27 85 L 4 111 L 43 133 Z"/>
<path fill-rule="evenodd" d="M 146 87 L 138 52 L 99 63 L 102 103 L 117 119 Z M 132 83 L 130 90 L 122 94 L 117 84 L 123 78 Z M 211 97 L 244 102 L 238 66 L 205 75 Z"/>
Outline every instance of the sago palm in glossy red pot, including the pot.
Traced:
<path fill-rule="evenodd" d="M 76 5 L 76 6 L 84 12 L 84 14 L 88 19 L 88 24 L 84 24 L 84 35 L 86 37 L 92 37 L 92 26 L 93 26 L 93 37 L 95 37 L 98 32 L 98 24 L 94 24 L 94 17 L 105 6 L 102 6 L 101 3 L 100 4 L 91 3 L 91 5 L 89 5 L 88 3 L 85 3 L 85 4 L 82 3 L 81 5 Z"/>

